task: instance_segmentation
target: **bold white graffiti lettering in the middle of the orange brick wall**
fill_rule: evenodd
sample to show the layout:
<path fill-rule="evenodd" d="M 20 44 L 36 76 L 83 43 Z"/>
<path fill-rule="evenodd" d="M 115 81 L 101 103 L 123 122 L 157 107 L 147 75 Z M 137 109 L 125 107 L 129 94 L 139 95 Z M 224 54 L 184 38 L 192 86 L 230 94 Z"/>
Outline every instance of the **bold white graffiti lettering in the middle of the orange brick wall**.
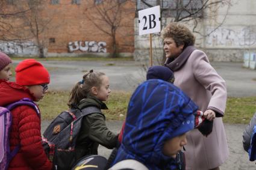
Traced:
<path fill-rule="evenodd" d="M 105 41 L 73 41 L 69 42 L 69 52 L 81 50 L 83 52 L 107 52 Z"/>

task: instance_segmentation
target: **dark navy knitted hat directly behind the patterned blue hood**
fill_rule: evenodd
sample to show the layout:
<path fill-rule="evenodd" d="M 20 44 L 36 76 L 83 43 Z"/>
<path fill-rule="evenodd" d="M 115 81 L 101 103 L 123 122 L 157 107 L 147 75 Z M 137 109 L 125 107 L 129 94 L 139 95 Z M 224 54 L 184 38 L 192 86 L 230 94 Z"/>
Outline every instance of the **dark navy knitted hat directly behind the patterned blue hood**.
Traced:
<path fill-rule="evenodd" d="M 172 70 L 168 67 L 155 65 L 149 67 L 148 72 L 146 74 L 146 79 L 161 79 L 166 82 L 173 83 L 174 82 L 174 74 Z"/>

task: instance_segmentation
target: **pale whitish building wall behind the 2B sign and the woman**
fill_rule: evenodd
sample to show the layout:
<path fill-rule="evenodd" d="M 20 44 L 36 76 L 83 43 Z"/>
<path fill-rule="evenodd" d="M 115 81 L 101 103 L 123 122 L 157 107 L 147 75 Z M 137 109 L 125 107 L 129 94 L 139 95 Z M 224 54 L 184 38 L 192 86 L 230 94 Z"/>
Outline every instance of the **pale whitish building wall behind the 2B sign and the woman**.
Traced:
<path fill-rule="evenodd" d="M 137 8 L 148 8 L 149 5 L 160 5 L 164 10 L 161 15 L 162 25 L 175 20 L 175 9 L 177 1 L 138 1 Z M 201 7 L 199 0 L 188 1 L 180 0 L 182 5 L 193 2 L 197 8 Z M 205 1 L 204 1 L 205 2 Z M 216 2 L 216 1 L 209 1 Z M 193 7 L 193 10 L 197 10 Z M 181 20 L 196 35 L 196 47 L 204 50 L 211 61 L 243 61 L 245 53 L 255 53 L 256 49 L 256 2 L 253 0 L 226 1 L 223 4 L 214 4 L 206 8 L 202 13 L 198 13 L 196 21 L 189 18 Z M 181 11 L 181 16 L 186 16 L 186 11 Z M 134 57 L 138 60 L 145 59 L 149 56 L 149 35 L 138 35 L 139 22 L 137 18 L 135 25 L 135 50 Z M 196 27 L 195 27 L 196 25 Z M 153 58 L 155 63 L 160 61 L 163 56 L 163 44 L 159 34 L 153 34 Z"/>

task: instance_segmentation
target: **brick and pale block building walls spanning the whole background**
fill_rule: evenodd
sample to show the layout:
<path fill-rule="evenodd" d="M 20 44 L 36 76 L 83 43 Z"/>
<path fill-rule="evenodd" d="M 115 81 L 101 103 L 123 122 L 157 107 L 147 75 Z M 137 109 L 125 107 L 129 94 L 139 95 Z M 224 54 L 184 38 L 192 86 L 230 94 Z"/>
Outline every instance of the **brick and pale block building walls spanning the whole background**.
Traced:
<path fill-rule="evenodd" d="M 40 7 L 26 16 L 27 19 L 20 15 L 1 15 L 8 11 L 14 13 L 15 3 L 20 7 L 22 3 L 37 1 L 41 2 Z M 204 2 L 213 5 L 200 10 Z M 256 2 L 214 2 L 219 1 L 4 0 L 0 2 L 0 50 L 20 56 L 37 55 L 40 49 L 46 56 L 110 56 L 116 52 L 120 56 L 134 56 L 136 60 L 148 59 L 149 35 L 139 36 L 137 11 L 160 5 L 162 28 L 175 20 L 182 22 L 193 30 L 196 47 L 204 50 L 211 61 L 243 61 L 245 53 L 255 53 L 256 49 Z M 189 8 L 181 10 L 183 7 Z M 195 11 L 194 17 L 182 19 Z M 37 23 L 27 23 L 28 20 L 37 20 Z M 17 34 L 10 34 L 18 37 L 1 39 L 3 21 L 13 24 L 12 28 L 19 28 Z M 35 31 L 37 27 L 39 30 Z M 159 35 L 152 35 L 155 64 L 163 59 Z M 3 39 L 5 41 L 1 41 Z"/>

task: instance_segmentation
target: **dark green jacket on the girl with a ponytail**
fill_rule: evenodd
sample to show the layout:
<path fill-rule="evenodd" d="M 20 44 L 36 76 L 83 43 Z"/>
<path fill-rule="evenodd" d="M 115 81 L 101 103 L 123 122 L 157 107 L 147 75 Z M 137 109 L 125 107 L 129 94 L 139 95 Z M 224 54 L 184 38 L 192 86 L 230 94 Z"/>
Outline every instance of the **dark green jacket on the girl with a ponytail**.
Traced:
<path fill-rule="evenodd" d="M 105 103 L 95 97 L 81 100 L 78 105 L 80 110 L 87 106 L 95 106 L 99 109 L 108 109 Z M 76 141 L 76 160 L 90 154 L 98 154 L 99 144 L 113 149 L 117 146 L 117 136 L 111 132 L 105 124 L 104 114 L 90 114 L 83 118 L 80 134 Z"/>

